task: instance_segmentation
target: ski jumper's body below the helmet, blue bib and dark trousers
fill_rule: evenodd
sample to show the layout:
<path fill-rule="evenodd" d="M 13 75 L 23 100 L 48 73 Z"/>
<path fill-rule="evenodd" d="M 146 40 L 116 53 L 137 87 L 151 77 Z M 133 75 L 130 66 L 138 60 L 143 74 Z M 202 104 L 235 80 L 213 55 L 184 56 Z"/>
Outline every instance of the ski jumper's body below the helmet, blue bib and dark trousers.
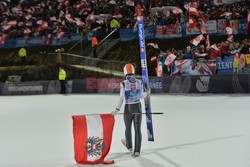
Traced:
<path fill-rule="evenodd" d="M 144 99 L 147 96 L 147 92 L 144 92 L 143 84 L 140 80 L 134 76 L 127 76 L 126 80 L 120 84 L 120 97 L 117 103 L 117 109 L 120 109 L 125 100 L 124 109 L 124 123 L 125 123 L 125 138 L 126 147 L 128 149 L 133 148 L 132 145 L 132 132 L 131 126 L 134 124 L 135 130 L 135 147 L 134 152 L 141 150 L 141 102 L 140 99 Z M 139 114 L 133 114 L 139 113 Z"/>

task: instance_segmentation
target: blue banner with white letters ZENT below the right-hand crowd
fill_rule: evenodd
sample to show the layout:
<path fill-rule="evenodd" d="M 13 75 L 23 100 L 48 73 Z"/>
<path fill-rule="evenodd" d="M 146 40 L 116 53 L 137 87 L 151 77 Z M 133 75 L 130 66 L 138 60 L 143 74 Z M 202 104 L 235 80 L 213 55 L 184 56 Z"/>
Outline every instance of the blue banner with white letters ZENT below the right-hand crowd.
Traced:
<path fill-rule="evenodd" d="M 233 74 L 233 56 L 225 56 L 224 60 L 221 57 L 216 59 L 217 74 Z"/>

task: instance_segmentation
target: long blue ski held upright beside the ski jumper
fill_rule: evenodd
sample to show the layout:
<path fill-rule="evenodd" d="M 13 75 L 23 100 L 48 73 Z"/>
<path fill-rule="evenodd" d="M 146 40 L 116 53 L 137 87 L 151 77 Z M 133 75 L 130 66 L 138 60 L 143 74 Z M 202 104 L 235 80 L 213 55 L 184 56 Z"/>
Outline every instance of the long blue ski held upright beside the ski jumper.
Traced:
<path fill-rule="evenodd" d="M 146 89 L 149 89 L 148 68 L 147 68 L 147 59 L 146 59 L 147 54 L 146 54 L 146 47 L 145 47 L 144 24 L 143 24 L 142 16 L 137 16 L 137 25 L 138 25 L 138 36 L 139 36 L 139 45 L 140 45 L 142 83 Z M 147 97 L 144 100 L 145 100 L 145 110 L 146 110 L 148 141 L 154 141 L 150 96 L 147 95 Z"/>

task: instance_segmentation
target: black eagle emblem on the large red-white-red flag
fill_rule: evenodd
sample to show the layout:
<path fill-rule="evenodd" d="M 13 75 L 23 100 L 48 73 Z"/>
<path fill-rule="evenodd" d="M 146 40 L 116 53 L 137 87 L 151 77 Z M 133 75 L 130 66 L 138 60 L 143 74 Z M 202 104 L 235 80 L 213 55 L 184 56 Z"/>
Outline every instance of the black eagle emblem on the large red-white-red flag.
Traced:
<path fill-rule="evenodd" d="M 102 138 L 99 137 L 89 137 L 87 139 L 86 152 L 91 157 L 97 157 L 102 155 L 104 149 L 104 142 Z"/>

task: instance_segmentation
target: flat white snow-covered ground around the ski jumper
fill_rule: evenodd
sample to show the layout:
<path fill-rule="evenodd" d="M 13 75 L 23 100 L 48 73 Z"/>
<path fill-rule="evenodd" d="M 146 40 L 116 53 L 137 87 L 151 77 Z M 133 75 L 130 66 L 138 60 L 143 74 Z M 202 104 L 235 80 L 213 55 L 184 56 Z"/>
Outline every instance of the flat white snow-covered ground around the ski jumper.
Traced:
<path fill-rule="evenodd" d="M 72 115 L 110 113 L 118 95 L 0 96 L 0 167 L 83 167 L 74 161 Z M 155 142 L 142 122 L 142 152 L 131 158 L 122 115 L 106 159 L 113 167 L 249 167 L 250 96 L 152 95 Z M 104 166 L 104 165 L 98 165 Z M 107 165 L 106 165 L 107 166 Z"/>

